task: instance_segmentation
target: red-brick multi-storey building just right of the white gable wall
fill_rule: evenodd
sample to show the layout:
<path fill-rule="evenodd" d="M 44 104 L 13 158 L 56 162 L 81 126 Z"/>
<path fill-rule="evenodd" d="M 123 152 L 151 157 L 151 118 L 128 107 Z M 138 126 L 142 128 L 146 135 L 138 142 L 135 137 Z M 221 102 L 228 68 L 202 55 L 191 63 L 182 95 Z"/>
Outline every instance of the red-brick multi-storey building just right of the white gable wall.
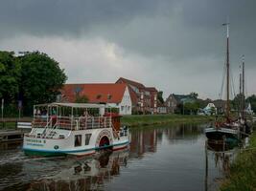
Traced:
<path fill-rule="evenodd" d="M 133 112 L 143 114 L 157 113 L 157 90 L 153 87 L 145 87 L 142 83 L 120 77 L 116 84 L 127 84 L 131 96 Z"/>

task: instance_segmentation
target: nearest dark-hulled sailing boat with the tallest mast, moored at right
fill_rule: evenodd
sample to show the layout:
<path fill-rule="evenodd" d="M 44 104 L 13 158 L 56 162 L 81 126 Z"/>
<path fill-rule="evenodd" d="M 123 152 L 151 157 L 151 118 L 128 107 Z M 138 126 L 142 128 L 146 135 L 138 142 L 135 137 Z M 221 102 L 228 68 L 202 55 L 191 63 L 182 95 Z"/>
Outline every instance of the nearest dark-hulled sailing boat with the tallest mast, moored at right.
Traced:
<path fill-rule="evenodd" d="M 224 139 L 240 138 L 240 127 L 241 124 L 239 121 L 234 121 L 230 117 L 230 64 L 229 64 L 229 23 L 223 24 L 226 26 L 226 108 L 225 108 L 225 121 L 224 122 L 215 122 L 214 126 L 205 129 L 205 135 L 209 139 Z"/>

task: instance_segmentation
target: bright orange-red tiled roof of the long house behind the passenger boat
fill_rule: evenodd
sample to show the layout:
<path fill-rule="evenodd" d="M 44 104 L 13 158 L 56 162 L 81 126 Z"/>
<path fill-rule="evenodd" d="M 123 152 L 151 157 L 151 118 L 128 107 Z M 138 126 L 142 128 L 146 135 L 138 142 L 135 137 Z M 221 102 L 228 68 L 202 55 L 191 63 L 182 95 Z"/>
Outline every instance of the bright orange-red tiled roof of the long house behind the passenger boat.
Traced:
<path fill-rule="evenodd" d="M 120 103 L 126 88 L 126 84 L 112 83 L 65 84 L 61 94 L 69 102 L 74 102 L 79 95 L 87 96 L 89 103 Z"/>

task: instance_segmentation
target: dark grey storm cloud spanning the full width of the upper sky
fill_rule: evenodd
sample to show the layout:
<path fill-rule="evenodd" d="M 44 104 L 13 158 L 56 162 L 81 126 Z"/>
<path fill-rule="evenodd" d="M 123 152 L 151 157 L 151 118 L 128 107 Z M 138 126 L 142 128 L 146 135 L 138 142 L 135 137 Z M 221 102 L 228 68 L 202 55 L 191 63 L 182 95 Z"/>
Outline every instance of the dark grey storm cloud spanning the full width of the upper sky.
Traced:
<path fill-rule="evenodd" d="M 1 2 L 0 22 L 2 36 L 85 32 L 105 36 L 133 53 L 185 60 L 221 55 L 226 16 L 235 38 L 231 45 L 242 47 L 234 48 L 235 53 L 244 48 L 244 54 L 251 54 L 255 7 L 254 0 L 9 0 Z"/>

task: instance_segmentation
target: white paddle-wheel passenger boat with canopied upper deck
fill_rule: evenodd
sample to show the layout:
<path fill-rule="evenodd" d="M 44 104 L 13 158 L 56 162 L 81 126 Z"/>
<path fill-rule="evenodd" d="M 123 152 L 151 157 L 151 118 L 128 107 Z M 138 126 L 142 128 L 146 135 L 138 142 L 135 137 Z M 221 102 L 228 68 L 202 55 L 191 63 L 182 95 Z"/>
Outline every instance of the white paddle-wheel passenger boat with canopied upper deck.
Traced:
<path fill-rule="evenodd" d="M 84 156 L 105 148 L 127 148 L 128 128 L 121 127 L 121 116 L 105 110 L 105 104 L 35 105 L 32 131 L 24 135 L 25 154 Z"/>

